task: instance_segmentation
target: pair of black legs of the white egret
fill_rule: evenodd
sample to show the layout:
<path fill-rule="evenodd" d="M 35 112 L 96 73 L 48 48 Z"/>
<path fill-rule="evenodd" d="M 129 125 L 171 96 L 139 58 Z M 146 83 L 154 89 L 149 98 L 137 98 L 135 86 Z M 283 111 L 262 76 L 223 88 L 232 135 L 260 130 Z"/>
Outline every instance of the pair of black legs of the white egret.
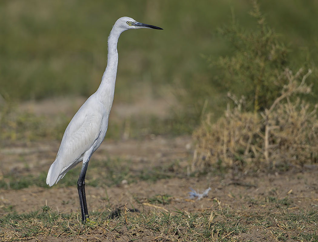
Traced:
<path fill-rule="evenodd" d="M 82 221 L 85 223 L 86 218 L 88 218 L 86 195 L 85 195 L 85 176 L 88 167 L 88 161 L 83 163 L 82 169 L 80 171 L 79 180 L 77 181 L 77 190 L 79 192 L 79 205 L 80 211 L 82 213 Z"/>

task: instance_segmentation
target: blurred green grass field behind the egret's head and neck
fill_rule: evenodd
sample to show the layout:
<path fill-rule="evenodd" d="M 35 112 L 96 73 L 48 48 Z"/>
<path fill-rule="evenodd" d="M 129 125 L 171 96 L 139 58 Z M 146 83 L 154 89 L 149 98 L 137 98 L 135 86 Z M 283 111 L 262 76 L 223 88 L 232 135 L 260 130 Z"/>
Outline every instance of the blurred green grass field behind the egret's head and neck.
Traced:
<path fill-rule="evenodd" d="M 268 12 L 269 24 L 282 33 L 290 49 L 316 45 L 314 3 L 292 4 L 287 0 L 259 3 L 263 12 Z M 158 5 L 144 0 L 121 4 L 101 0 L 82 4 L 3 1 L 0 29 L 4 38 L 0 43 L 5 48 L 1 49 L 4 88 L 1 94 L 12 99 L 91 94 L 105 68 L 109 31 L 115 20 L 124 15 L 160 25 L 164 31 L 129 31 L 121 37 L 120 81 L 116 87 L 120 99 L 130 100 L 133 94 L 129 95 L 128 90 L 136 81 L 138 85 L 149 82 L 155 88 L 173 83 L 174 79 L 189 83 L 194 77 L 211 77 L 200 54 L 218 57 L 231 53 L 230 44 L 215 36 L 215 30 L 232 21 L 231 8 L 237 22 L 246 28 L 255 27 L 248 15 L 251 6 L 247 0 L 243 3 L 163 1 Z M 106 14 L 106 9 L 112 11 Z M 147 41 L 141 45 L 144 39 Z"/>

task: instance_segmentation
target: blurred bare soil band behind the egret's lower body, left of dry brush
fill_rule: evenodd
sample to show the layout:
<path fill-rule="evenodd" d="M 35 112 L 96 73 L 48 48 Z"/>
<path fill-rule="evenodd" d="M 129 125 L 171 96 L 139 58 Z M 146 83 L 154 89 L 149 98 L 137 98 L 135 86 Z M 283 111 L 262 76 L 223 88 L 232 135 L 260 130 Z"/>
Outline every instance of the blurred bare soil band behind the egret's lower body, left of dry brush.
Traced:
<path fill-rule="evenodd" d="M 3 147 L 0 149 L 1 173 L 36 175 L 41 171 L 47 171 L 55 160 L 59 145 L 59 141 L 41 141 Z M 151 136 L 144 140 L 104 140 L 92 159 L 129 159 L 134 169 L 139 169 L 145 163 L 153 166 L 164 165 L 174 160 L 180 160 L 186 165 L 191 152 L 192 140 L 188 136 L 173 139 Z"/>

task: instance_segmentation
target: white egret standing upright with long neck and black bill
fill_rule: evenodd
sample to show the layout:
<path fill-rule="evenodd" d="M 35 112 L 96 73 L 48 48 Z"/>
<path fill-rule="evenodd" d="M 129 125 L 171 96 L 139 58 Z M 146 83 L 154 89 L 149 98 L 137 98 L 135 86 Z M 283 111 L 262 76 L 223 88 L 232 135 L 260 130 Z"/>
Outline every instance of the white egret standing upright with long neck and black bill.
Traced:
<path fill-rule="evenodd" d="M 115 22 L 108 37 L 107 67 L 100 86 L 79 108 L 67 125 L 58 154 L 47 174 L 46 184 L 52 186 L 63 178 L 67 171 L 83 161 L 77 182 L 83 222 L 88 219 L 85 196 L 85 175 L 88 161 L 105 138 L 109 112 L 114 100 L 118 38 L 125 30 L 141 28 L 162 30 L 157 26 L 139 23 L 130 17 L 121 17 Z"/>

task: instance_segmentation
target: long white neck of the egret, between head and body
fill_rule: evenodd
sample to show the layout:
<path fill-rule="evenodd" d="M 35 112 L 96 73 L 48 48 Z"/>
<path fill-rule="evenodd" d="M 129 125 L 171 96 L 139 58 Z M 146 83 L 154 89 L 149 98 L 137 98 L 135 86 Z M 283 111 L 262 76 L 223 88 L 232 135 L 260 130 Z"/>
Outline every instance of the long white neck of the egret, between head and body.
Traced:
<path fill-rule="evenodd" d="M 121 30 L 114 28 L 110 31 L 108 37 L 108 58 L 106 70 L 101 78 L 101 83 L 95 94 L 98 100 L 104 104 L 108 114 L 114 100 L 115 82 L 118 65 L 117 42 Z"/>

